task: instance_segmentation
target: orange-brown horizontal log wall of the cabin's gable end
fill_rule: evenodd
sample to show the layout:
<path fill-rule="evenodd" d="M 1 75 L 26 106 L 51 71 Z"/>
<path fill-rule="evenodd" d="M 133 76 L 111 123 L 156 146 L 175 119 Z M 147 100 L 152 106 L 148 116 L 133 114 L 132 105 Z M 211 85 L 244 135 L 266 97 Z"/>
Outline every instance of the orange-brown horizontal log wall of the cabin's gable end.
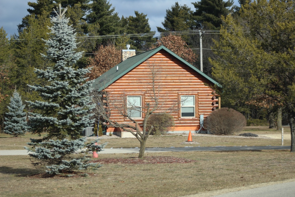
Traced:
<path fill-rule="evenodd" d="M 159 87 L 156 90 L 159 91 L 159 103 L 163 105 L 161 110 L 173 105 L 176 105 L 173 110 L 177 110 L 180 108 L 180 95 L 196 95 L 195 118 L 181 118 L 180 110 L 171 113 L 175 118 L 174 131 L 198 130 L 199 116 L 206 117 L 214 107 L 218 108 L 218 98 L 213 98 L 212 88 L 204 85 L 212 83 L 165 51 L 159 51 L 106 88 L 112 102 L 109 103 L 110 107 L 116 105 L 119 109 L 122 103 L 126 103 L 127 95 L 142 95 L 142 107 L 148 102 L 153 107 L 153 101 L 149 98 L 152 91 L 152 68 L 156 70 L 154 79 L 155 87 Z M 131 123 L 117 109 L 112 110 L 111 115 L 119 123 Z"/>

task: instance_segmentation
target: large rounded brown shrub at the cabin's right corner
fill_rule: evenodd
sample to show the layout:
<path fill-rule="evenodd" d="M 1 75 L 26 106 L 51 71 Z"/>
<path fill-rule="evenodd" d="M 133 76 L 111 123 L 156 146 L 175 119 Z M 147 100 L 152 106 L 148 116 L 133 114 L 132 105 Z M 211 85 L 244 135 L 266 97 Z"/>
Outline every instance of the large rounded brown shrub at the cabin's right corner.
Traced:
<path fill-rule="evenodd" d="M 240 112 L 221 108 L 213 111 L 204 120 L 208 133 L 213 135 L 232 135 L 243 130 L 246 126 L 246 118 Z"/>

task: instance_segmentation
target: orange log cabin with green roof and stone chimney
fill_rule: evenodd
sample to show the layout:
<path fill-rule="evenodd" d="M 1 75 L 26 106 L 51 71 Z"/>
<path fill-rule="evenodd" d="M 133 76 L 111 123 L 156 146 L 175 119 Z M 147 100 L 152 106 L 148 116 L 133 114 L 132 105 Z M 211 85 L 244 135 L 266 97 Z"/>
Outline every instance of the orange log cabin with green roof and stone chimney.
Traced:
<path fill-rule="evenodd" d="M 130 55 L 131 54 L 131 55 Z M 131 57 L 128 57 L 130 55 Z M 220 107 L 212 87 L 220 85 L 181 57 L 161 45 L 135 55 L 135 50 L 122 50 L 122 62 L 93 82 L 93 88 L 109 97 L 113 108 L 110 119 L 132 124 L 121 108 L 137 122 L 143 121 L 145 106 L 158 99 L 158 113 L 170 113 L 175 127 L 171 131 L 199 131 L 203 118 Z M 111 99 L 110 99 L 111 98 Z M 132 103 L 132 104 L 131 104 Z M 160 106 L 160 107 L 159 107 Z M 120 128 L 108 128 L 121 137 L 131 137 Z M 128 134 L 129 133 L 129 134 Z"/>

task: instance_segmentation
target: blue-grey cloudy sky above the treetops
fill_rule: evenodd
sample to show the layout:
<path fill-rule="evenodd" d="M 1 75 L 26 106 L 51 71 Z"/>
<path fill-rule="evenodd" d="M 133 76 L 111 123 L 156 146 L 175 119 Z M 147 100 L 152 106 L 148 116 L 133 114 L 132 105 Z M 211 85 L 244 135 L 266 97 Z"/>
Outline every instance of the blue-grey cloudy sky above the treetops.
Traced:
<path fill-rule="evenodd" d="M 171 9 L 177 0 L 109 0 L 112 7 L 115 7 L 115 12 L 118 12 L 119 17 L 135 16 L 134 11 L 147 14 L 149 24 L 152 31 L 157 32 L 157 27 L 163 27 L 161 22 L 164 21 L 166 9 Z M 191 2 L 197 0 L 178 0 L 178 4 L 186 4 L 195 10 Z M 27 0 L 0 0 L 0 27 L 3 26 L 4 30 L 10 37 L 11 34 L 17 34 L 17 25 L 22 22 L 22 18 L 29 12 L 30 8 Z M 37 2 L 37 0 L 30 0 L 30 2 Z M 237 2 L 237 0 L 235 0 Z"/>

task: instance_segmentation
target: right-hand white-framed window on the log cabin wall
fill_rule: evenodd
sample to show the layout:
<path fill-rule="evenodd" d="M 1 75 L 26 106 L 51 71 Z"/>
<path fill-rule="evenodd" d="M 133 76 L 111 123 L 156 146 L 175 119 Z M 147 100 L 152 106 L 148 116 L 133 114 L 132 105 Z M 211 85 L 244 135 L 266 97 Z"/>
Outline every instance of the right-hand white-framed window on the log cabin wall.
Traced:
<path fill-rule="evenodd" d="M 195 117 L 195 95 L 181 95 L 181 118 Z"/>

